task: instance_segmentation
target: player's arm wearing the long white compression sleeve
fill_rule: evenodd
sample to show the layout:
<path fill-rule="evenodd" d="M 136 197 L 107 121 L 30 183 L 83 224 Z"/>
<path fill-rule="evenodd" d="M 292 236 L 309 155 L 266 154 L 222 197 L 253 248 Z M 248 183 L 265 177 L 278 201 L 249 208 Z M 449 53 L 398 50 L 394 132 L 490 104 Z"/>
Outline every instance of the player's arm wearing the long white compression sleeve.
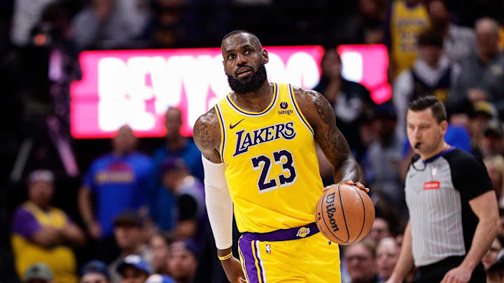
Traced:
<path fill-rule="evenodd" d="M 215 108 L 197 119 L 193 138 L 203 154 L 205 202 L 218 256 L 227 256 L 232 246 L 232 201 L 225 182 L 221 155 L 221 129 Z M 208 159 L 208 160 L 206 160 Z M 228 280 L 232 283 L 246 282 L 240 261 L 231 256 L 221 261 Z"/>

